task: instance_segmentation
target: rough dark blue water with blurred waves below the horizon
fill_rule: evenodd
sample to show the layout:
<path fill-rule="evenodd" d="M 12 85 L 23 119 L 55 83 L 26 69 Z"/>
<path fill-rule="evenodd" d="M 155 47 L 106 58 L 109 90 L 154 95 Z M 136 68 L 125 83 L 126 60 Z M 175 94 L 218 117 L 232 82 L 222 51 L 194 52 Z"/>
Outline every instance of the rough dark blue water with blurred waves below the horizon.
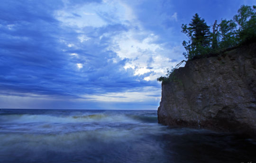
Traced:
<path fill-rule="evenodd" d="M 0 110 L 0 163 L 256 163 L 256 140 L 157 124 L 156 111 Z"/>

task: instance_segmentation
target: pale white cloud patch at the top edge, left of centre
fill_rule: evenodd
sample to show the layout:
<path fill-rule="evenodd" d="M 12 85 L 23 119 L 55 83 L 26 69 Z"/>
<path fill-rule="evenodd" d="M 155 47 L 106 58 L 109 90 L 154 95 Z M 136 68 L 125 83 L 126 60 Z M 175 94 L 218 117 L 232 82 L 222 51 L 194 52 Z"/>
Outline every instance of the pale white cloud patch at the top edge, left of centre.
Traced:
<path fill-rule="evenodd" d="M 80 17 L 75 17 L 74 14 Z M 102 3 L 86 3 L 81 6 L 72 6 L 66 2 L 64 9 L 55 11 L 55 17 L 66 26 L 80 28 L 127 24 L 136 18 L 132 9 L 120 0 L 104 0 Z"/>

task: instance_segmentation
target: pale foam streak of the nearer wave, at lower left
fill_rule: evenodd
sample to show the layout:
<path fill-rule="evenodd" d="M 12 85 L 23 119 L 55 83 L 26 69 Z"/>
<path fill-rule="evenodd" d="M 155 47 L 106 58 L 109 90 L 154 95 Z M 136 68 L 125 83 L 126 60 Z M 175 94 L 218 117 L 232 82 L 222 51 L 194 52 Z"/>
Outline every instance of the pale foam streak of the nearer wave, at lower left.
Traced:
<path fill-rule="evenodd" d="M 127 142 L 142 137 L 126 129 L 96 129 L 91 131 L 59 133 L 59 134 L 0 134 L 0 153 L 14 149 L 53 150 L 69 152 L 76 149 L 90 149 L 102 143 Z"/>

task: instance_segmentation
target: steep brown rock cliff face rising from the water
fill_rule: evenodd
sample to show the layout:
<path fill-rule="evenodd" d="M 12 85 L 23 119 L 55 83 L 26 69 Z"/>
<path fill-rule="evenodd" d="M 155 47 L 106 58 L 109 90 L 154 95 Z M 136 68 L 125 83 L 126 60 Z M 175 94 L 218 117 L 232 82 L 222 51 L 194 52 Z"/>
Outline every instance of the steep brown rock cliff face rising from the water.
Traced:
<path fill-rule="evenodd" d="M 256 136 L 256 43 L 188 61 L 162 84 L 158 123 Z"/>

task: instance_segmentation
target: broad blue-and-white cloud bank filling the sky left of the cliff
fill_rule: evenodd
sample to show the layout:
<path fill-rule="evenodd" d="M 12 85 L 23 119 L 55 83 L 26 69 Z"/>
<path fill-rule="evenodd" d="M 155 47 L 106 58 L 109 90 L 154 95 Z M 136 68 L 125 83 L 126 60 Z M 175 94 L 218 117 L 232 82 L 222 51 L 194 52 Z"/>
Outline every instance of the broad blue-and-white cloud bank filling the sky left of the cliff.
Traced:
<path fill-rule="evenodd" d="M 9 103 L 159 103 L 156 78 L 176 64 L 172 55 L 180 47 L 146 29 L 134 6 L 119 0 L 1 4 L 0 95 Z"/>

